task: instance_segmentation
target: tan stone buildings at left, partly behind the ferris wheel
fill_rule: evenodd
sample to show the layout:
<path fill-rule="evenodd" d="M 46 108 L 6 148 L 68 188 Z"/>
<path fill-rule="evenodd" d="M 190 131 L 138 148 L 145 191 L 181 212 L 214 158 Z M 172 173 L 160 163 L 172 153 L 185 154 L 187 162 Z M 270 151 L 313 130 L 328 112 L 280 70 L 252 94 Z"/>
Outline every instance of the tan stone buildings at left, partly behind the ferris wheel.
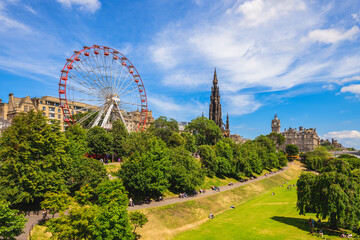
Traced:
<path fill-rule="evenodd" d="M 68 102 L 68 104 L 71 115 L 85 113 L 85 109 L 88 109 L 90 106 L 81 102 Z M 35 109 L 36 111 L 42 111 L 43 115 L 50 120 L 59 121 L 62 130 L 64 130 L 64 128 L 67 126 L 67 123 L 64 123 L 63 112 L 60 108 L 60 100 L 57 97 L 44 96 L 40 98 L 30 98 L 27 96 L 24 98 L 18 98 L 14 97 L 14 94 L 10 93 L 8 103 L 3 103 L 0 99 L 0 117 L 10 122 L 17 114 L 21 112 L 28 112 L 32 109 Z M 136 131 L 140 121 L 140 112 L 129 112 L 128 118 L 132 119 L 132 122 L 129 124 L 130 131 Z M 152 116 L 152 112 L 149 111 L 145 128 L 148 128 L 153 122 L 154 118 Z"/>

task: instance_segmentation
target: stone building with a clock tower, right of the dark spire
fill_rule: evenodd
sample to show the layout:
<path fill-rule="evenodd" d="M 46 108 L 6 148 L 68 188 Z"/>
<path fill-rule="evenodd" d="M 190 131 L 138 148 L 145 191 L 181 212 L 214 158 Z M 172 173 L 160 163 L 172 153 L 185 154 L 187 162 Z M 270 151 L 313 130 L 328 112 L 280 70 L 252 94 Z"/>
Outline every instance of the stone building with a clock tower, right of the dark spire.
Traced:
<path fill-rule="evenodd" d="M 320 145 L 320 138 L 316 133 L 316 128 L 303 128 L 299 127 L 299 130 L 296 128 L 289 128 L 288 130 L 284 130 L 284 132 L 280 131 L 280 119 L 277 118 L 275 114 L 274 119 L 271 121 L 271 131 L 280 133 L 285 137 L 285 143 L 281 146 L 281 148 L 285 148 L 286 145 L 294 144 L 299 148 L 300 152 L 309 152 L 313 151 L 317 146 Z"/>

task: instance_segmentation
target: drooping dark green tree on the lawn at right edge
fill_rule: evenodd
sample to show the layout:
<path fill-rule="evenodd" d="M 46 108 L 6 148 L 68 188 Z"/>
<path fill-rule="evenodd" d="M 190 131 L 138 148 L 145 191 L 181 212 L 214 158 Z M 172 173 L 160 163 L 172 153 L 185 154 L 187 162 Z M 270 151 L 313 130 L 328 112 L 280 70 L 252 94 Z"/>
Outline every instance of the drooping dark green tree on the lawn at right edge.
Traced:
<path fill-rule="evenodd" d="M 332 228 L 356 228 L 360 220 L 360 188 L 351 174 L 325 172 L 303 174 L 298 181 L 300 214 L 316 212 L 329 218 Z"/>

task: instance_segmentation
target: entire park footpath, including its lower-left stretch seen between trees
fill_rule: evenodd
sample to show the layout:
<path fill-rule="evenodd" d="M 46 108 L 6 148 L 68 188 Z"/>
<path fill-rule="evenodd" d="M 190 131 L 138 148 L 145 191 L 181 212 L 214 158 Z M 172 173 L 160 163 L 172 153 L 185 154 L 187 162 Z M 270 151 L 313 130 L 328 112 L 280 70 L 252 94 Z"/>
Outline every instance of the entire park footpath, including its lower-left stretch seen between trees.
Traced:
<path fill-rule="evenodd" d="M 235 182 L 233 183 L 233 185 L 225 185 L 220 187 L 220 191 L 214 191 L 212 189 L 206 189 L 205 193 L 198 193 L 196 195 L 192 195 L 192 196 L 188 196 L 186 198 L 179 198 L 179 197 L 172 197 L 172 198 L 164 198 L 162 201 L 151 201 L 150 203 L 146 204 L 136 204 L 133 207 L 129 207 L 129 210 L 138 210 L 138 209 L 144 209 L 144 208 L 151 208 L 151 207 L 160 207 L 160 206 L 165 206 L 165 205 L 169 205 L 169 204 L 174 204 L 174 203 L 179 203 L 179 202 L 186 202 L 186 201 L 190 201 L 190 200 L 194 200 L 197 198 L 202 198 L 202 197 L 207 197 L 213 194 L 218 194 L 227 190 L 231 190 L 249 183 L 253 183 L 253 182 L 257 182 L 260 181 L 262 179 L 265 178 L 269 178 L 272 177 L 274 175 L 277 175 L 281 172 L 284 172 L 286 170 L 288 170 L 289 165 L 292 163 L 288 163 L 288 166 L 272 173 L 272 174 L 268 174 L 267 176 L 263 175 L 263 176 L 259 176 L 253 180 L 248 180 L 246 182 Z M 28 222 L 25 225 L 24 228 L 24 233 L 21 234 L 20 236 L 16 237 L 17 240 L 27 240 L 30 231 L 32 230 L 32 228 L 38 223 L 39 220 L 42 219 L 42 214 L 39 212 L 31 212 L 28 215 L 26 215 L 26 219 L 28 219 Z M 55 218 L 58 217 L 58 214 L 55 214 Z"/>

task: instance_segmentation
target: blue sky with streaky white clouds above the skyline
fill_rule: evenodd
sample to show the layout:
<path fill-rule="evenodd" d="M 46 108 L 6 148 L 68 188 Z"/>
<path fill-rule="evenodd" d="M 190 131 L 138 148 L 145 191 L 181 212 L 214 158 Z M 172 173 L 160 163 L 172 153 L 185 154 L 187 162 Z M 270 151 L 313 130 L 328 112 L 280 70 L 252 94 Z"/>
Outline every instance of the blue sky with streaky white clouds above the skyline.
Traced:
<path fill-rule="evenodd" d="M 0 98 L 57 96 L 74 50 L 115 48 L 140 72 L 149 108 L 190 121 L 214 68 L 232 133 L 316 128 L 360 148 L 358 0 L 2 0 Z"/>

